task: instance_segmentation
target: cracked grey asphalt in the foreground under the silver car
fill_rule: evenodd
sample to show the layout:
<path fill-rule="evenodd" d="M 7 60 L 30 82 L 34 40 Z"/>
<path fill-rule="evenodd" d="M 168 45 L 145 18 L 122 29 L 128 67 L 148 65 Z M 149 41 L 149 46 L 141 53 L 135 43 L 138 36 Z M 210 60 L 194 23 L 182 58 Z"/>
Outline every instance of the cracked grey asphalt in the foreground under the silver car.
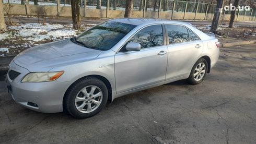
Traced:
<path fill-rule="evenodd" d="M 203 83 L 184 80 L 118 98 L 75 119 L 16 104 L 0 77 L 1 143 L 255 143 L 256 44 L 221 48 Z"/>

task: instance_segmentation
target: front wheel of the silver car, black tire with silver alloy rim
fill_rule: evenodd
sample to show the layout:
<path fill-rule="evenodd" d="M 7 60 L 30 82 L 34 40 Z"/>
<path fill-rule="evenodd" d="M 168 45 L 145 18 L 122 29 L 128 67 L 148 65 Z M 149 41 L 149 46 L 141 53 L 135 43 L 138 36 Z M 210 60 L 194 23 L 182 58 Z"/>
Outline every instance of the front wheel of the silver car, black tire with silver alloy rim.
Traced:
<path fill-rule="evenodd" d="M 103 81 L 87 77 L 76 81 L 66 92 L 64 109 L 75 118 L 96 115 L 106 105 L 108 89 Z"/>

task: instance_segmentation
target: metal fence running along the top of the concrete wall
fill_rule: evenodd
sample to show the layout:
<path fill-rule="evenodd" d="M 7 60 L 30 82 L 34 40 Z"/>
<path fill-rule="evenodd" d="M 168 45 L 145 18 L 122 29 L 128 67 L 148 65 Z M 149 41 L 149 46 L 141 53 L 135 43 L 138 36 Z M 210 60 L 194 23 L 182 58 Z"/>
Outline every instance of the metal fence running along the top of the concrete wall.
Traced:
<path fill-rule="evenodd" d="M 1 1 L 1 0 L 0 0 Z M 13 4 L 25 4 L 28 2 L 29 5 L 34 5 L 33 0 L 2 0 L 3 3 L 13 3 Z M 60 6 L 71 6 L 71 1 L 75 0 L 38 0 L 38 5 L 47 5 L 47 6 L 57 6 L 57 2 L 60 2 Z M 77 1 L 77 0 L 76 0 Z M 86 2 L 86 5 L 84 5 Z M 86 7 L 86 9 L 109 9 L 109 10 L 125 10 L 126 0 L 101 0 L 99 6 L 98 0 L 80 0 L 80 6 Z M 160 4 L 161 2 L 161 4 Z M 109 5 L 107 6 L 107 4 Z M 158 11 L 159 13 L 184 13 L 185 15 L 189 13 L 201 13 L 202 15 L 214 14 L 216 4 L 207 4 L 207 3 L 196 3 L 196 2 L 187 2 L 187 1 L 174 1 L 174 0 L 134 0 L 133 1 L 133 10 L 134 11 L 143 11 L 143 17 L 145 11 Z M 160 10 L 159 10 L 160 8 Z M 108 10 L 107 10 L 108 11 Z M 224 11 L 223 15 L 229 15 L 231 11 Z M 59 11 L 58 11 L 59 14 Z M 106 14 L 107 15 L 107 14 Z M 237 10 L 238 16 L 250 17 L 249 20 L 255 21 L 256 19 L 256 8 L 251 8 L 248 11 Z"/>

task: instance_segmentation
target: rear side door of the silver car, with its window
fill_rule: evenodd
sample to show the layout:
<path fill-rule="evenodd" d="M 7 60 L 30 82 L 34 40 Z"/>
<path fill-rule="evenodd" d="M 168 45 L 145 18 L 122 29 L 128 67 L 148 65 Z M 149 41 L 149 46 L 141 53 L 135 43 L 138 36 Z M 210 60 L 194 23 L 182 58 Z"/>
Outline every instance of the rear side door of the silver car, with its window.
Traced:
<path fill-rule="evenodd" d="M 181 25 L 165 25 L 168 35 L 168 66 L 166 80 L 190 74 L 203 52 L 203 42 L 195 33 Z"/>

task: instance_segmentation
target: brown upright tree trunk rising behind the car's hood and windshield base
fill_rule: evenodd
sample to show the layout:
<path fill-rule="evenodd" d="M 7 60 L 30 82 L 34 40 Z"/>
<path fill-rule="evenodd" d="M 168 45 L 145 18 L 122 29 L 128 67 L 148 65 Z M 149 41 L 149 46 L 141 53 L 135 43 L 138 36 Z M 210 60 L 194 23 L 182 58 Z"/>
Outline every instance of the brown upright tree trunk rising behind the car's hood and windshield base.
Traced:
<path fill-rule="evenodd" d="M 81 15 L 79 1 L 71 1 L 73 29 L 81 29 Z"/>

